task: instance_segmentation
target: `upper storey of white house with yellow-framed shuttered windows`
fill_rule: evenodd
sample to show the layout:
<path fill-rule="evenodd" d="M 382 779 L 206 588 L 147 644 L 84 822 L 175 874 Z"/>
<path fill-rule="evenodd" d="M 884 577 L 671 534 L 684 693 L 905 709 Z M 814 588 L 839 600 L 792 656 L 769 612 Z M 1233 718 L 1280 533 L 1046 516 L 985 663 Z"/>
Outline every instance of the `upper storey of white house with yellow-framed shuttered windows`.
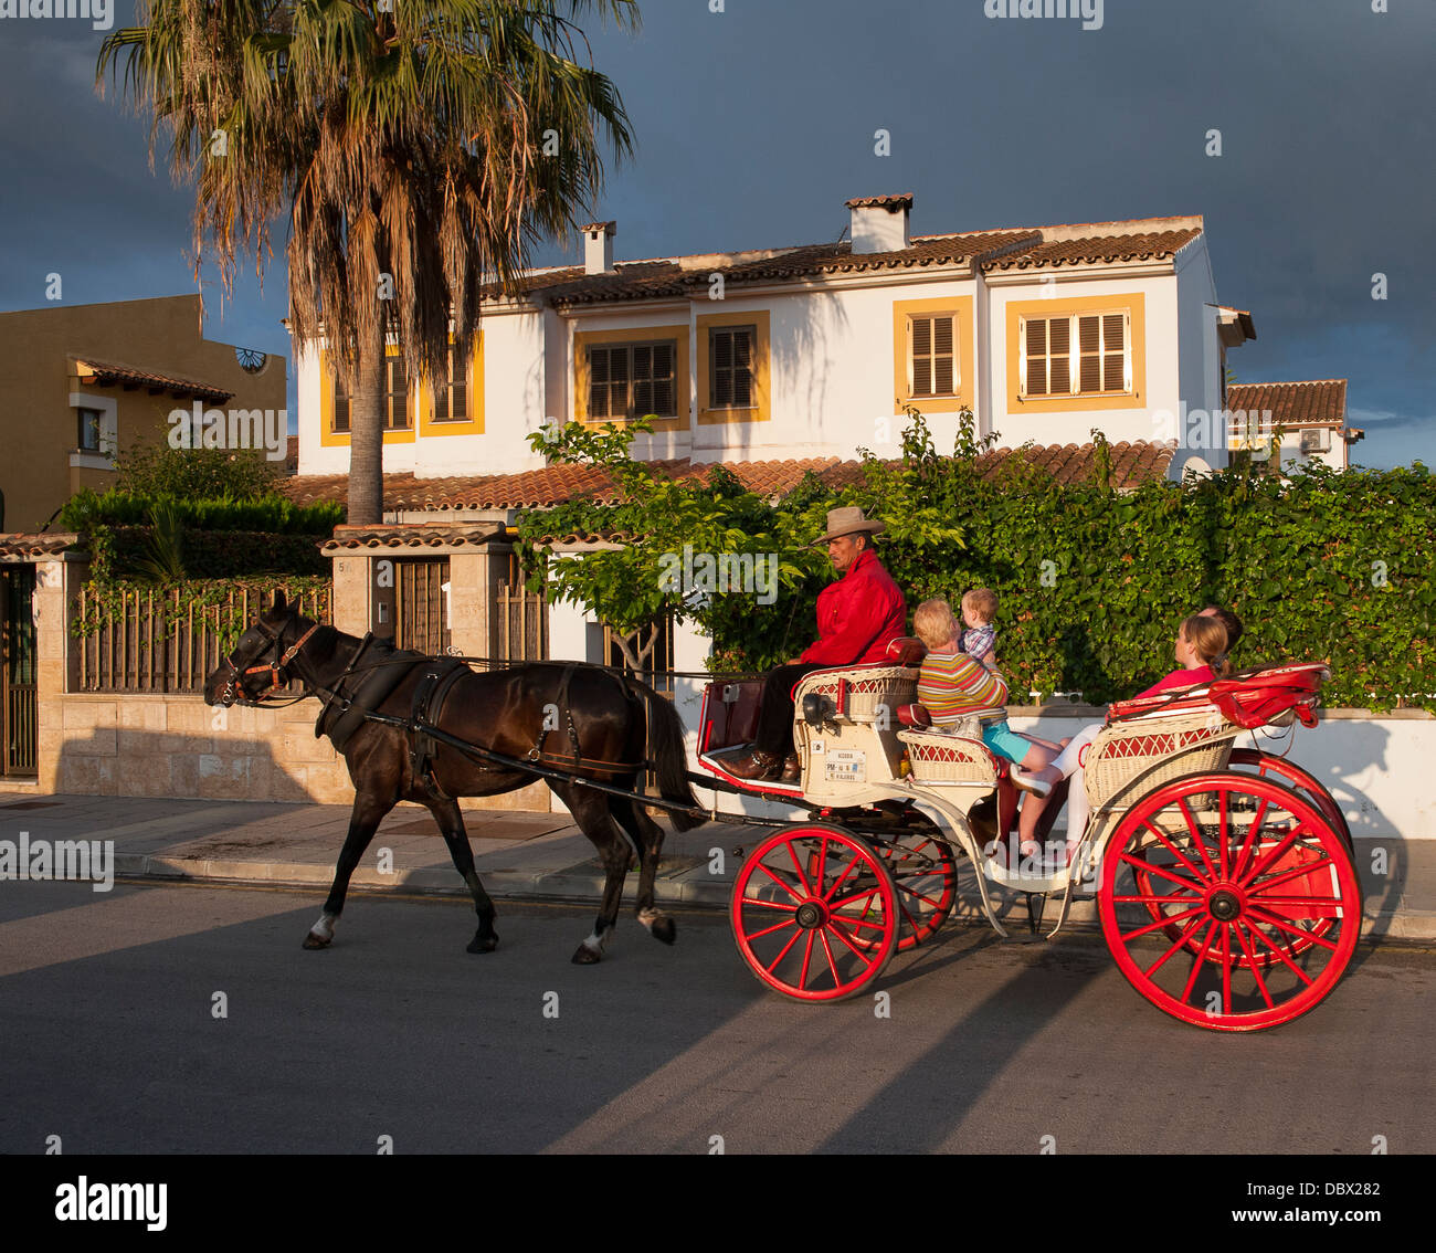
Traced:
<path fill-rule="evenodd" d="M 951 447 L 969 407 L 999 445 L 1173 443 L 1166 473 L 1226 463 L 1226 351 L 1200 217 L 912 236 L 912 195 L 847 201 L 849 240 L 613 260 L 494 299 L 435 395 L 391 366 L 385 467 L 416 478 L 537 470 L 547 420 L 659 414 L 635 453 L 692 463 L 898 454 L 905 404 Z M 395 348 L 396 353 L 396 348 Z M 323 343 L 296 343 L 299 474 L 348 470 L 348 401 Z"/>

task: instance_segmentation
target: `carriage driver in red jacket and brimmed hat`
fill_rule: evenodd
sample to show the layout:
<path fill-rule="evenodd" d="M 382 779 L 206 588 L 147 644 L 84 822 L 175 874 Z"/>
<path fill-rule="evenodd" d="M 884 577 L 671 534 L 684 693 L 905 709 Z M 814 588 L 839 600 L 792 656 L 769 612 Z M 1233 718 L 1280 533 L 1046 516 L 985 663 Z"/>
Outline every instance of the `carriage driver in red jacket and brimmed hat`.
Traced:
<path fill-rule="evenodd" d="M 833 665 L 882 661 L 887 644 L 908 625 L 908 604 L 892 575 L 873 552 L 873 536 L 886 524 L 857 507 L 830 509 L 827 532 L 814 543 L 827 545 L 833 569 L 841 576 L 817 598 L 819 638 L 796 661 L 768 672 L 763 685 L 758 731 L 748 752 L 728 764 L 740 779 L 798 782 L 793 750 L 793 687 L 806 674 Z"/>

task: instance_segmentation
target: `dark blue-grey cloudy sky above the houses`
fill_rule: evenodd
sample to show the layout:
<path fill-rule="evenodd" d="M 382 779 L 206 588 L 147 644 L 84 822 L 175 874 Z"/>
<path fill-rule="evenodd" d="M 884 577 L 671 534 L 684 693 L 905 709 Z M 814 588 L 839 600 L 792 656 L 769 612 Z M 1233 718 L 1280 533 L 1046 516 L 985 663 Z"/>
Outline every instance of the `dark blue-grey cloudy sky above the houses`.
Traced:
<path fill-rule="evenodd" d="M 1090 30 L 994 7 L 649 0 L 638 34 L 593 23 L 638 137 L 593 207 L 616 257 L 834 240 L 844 200 L 895 191 L 920 234 L 1199 213 L 1218 297 L 1256 323 L 1238 379 L 1348 378 L 1354 460 L 1436 464 L 1436 3 L 1103 0 Z M 66 303 L 194 290 L 192 191 L 96 96 L 102 37 L 0 20 L 0 309 L 42 306 L 50 272 Z M 281 256 L 231 300 L 208 273 L 207 335 L 289 355 L 284 287 Z"/>

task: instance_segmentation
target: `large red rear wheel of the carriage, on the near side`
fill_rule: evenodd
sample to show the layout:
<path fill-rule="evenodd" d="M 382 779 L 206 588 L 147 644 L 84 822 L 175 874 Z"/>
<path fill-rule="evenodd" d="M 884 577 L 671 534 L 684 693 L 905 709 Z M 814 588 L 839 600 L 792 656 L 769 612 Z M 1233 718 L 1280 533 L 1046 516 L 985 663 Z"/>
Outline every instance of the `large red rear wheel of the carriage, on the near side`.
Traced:
<path fill-rule="evenodd" d="M 1244 1032 L 1331 991 L 1360 935 L 1361 891 L 1310 800 L 1251 775 L 1188 775 L 1122 819 L 1097 912 L 1117 968 L 1157 1009 Z"/>

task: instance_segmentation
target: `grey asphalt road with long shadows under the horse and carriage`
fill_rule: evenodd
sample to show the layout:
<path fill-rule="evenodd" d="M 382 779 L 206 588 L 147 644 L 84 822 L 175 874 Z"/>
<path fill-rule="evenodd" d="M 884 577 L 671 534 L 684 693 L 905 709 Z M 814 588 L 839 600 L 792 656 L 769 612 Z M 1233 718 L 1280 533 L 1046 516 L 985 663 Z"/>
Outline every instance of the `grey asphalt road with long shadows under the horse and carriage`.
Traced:
<path fill-rule="evenodd" d="M 1436 954 L 1361 947 L 1313 1013 L 1219 1036 L 1150 1007 L 1097 938 L 949 928 L 873 997 L 801 1006 L 727 918 L 356 897 L 333 948 L 279 891 L 0 887 L 0 1151 L 1064 1152 L 1436 1148 Z M 218 1014 L 223 994 L 223 1016 Z M 1051 1137 L 1051 1141 L 1045 1139 Z"/>

